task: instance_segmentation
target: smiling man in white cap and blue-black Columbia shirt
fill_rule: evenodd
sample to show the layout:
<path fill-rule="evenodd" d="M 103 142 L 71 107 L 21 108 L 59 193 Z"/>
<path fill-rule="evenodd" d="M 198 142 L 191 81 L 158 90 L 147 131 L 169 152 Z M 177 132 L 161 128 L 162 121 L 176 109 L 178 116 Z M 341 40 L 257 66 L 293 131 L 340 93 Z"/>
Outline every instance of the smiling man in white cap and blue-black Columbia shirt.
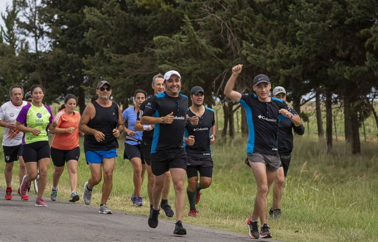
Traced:
<path fill-rule="evenodd" d="M 188 109 L 188 97 L 180 94 L 181 76 L 177 71 L 164 74 L 165 92 L 151 97 L 147 103 L 142 125 L 154 125 L 151 147 L 151 168 L 154 174 L 153 208 L 148 225 L 156 228 L 160 212 L 159 201 L 164 188 L 165 174 L 171 172 L 175 192 L 176 226 L 173 234 L 185 235 L 181 220 L 185 206 L 184 180 L 187 168 L 183 137 Z"/>

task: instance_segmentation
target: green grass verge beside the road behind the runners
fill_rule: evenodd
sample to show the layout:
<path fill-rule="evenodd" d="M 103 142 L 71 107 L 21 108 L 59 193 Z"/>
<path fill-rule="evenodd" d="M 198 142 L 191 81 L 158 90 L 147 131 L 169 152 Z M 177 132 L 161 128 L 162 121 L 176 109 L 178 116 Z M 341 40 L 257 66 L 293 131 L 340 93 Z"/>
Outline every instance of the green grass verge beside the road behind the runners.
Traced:
<path fill-rule="evenodd" d="M 296 137 L 285 183 L 282 217 L 278 221 L 268 219 L 274 239 L 287 242 L 377 242 L 377 144 L 367 142 L 362 145 L 362 155 L 352 156 L 343 142 L 335 143 L 333 151 L 327 153 L 326 145 L 316 140 L 315 136 Z M 123 145 L 120 143 L 120 156 L 116 159 L 113 190 L 108 205 L 112 210 L 147 216 L 146 183 L 142 186 L 146 206 L 135 208 L 128 200 L 133 191 L 132 167 L 129 161 L 122 160 Z M 246 157 L 245 146 L 246 141 L 241 138 L 227 144 L 213 145 L 213 184 L 202 191 L 197 206 L 199 216 L 184 217 L 184 223 L 247 234 L 244 220 L 252 212 L 256 184 L 250 168 L 243 162 Z M 0 159 L 3 159 L 2 152 Z M 16 167 L 17 164 L 15 162 Z M 4 166 L 4 162 L 0 162 L 1 189 L 5 189 Z M 53 169 L 51 162 L 45 197 L 49 196 Z M 78 192 L 81 194 L 84 182 L 90 177 L 82 150 L 78 177 Z M 12 186 L 14 190 L 18 186 L 17 169 L 14 169 Z M 68 174 L 65 171 L 59 184 L 58 200 L 67 201 L 69 193 Z M 169 198 L 171 205 L 174 202 L 173 194 L 172 189 Z M 96 186 L 92 206 L 99 206 L 100 195 L 101 186 Z M 269 194 L 269 206 L 271 199 L 272 195 Z M 47 199 L 48 203 L 52 202 Z M 184 214 L 188 210 L 187 202 Z M 164 216 L 161 218 L 167 219 Z"/>

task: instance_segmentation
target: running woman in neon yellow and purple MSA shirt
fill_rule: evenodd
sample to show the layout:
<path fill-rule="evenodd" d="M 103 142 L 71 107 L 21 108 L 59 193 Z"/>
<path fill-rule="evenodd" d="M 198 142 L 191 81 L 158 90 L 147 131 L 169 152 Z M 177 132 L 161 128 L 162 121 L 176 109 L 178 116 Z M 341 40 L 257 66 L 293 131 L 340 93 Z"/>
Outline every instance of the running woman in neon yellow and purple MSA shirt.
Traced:
<path fill-rule="evenodd" d="M 24 133 L 22 137 L 22 157 L 28 172 L 22 178 L 20 194 L 28 193 L 30 182 L 38 175 L 38 195 L 35 206 L 47 207 L 42 198 L 47 183 L 47 169 L 50 163 L 50 145 L 48 144 L 47 129 L 52 131 L 57 126 L 49 106 L 42 103 L 45 89 L 39 85 L 31 86 L 33 102 L 22 107 L 16 119 L 16 129 Z"/>

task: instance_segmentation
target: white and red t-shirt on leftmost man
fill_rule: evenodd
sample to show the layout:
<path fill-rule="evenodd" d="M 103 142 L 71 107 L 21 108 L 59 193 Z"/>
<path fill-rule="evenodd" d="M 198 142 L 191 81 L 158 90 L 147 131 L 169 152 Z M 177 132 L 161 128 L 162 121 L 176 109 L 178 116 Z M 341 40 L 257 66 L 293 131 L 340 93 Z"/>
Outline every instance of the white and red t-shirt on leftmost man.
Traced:
<path fill-rule="evenodd" d="M 6 102 L 0 107 L 0 120 L 5 123 L 16 123 L 16 118 L 18 113 L 20 113 L 23 106 L 27 105 L 28 102 L 22 101 L 19 106 L 13 104 L 12 101 Z M 2 138 L 2 145 L 4 146 L 16 146 L 21 145 L 23 132 L 17 129 L 4 128 L 4 135 Z"/>

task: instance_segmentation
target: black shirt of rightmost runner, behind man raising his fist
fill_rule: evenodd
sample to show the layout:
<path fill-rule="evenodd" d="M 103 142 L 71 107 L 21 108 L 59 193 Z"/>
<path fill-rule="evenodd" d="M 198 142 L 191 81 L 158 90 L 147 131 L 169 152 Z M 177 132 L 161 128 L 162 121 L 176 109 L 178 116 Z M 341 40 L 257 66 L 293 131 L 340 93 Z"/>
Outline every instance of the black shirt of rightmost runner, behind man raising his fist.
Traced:
<path fill-rule="evenodd" d="M 298 114 L 294 109 L 293 113 Z M 291 153 L 293 151 L 293 130 L 303 135 L 304 126 L 301 124 L 298 127 L 291 122 L 290 119 L 282 119 L 278 126 L 278 153 Z"/>

